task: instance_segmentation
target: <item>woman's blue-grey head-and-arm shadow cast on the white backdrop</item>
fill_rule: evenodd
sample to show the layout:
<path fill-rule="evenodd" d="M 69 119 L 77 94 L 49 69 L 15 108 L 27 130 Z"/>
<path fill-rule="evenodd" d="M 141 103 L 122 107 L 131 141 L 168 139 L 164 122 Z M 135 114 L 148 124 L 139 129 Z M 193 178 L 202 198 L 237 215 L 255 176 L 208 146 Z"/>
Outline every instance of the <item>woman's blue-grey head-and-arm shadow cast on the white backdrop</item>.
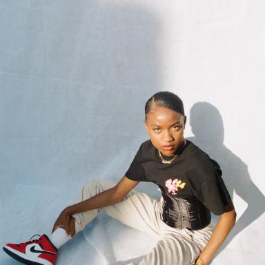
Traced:
<path fill-rule="evenodd" d="M 218 161 L 232 199 L 235 191 L 248 204 L 219 249 L 218 253 L 220 253 L 233 237 L 264 213 L 265 197 L 251 180 L 248 166 L 244 161 L 224 146 L 224 124 L 222 116 L 215 106 L 207 102 L 196 103 L 190 110 L 190 126 L 195 136 L 188 139 Z"/>

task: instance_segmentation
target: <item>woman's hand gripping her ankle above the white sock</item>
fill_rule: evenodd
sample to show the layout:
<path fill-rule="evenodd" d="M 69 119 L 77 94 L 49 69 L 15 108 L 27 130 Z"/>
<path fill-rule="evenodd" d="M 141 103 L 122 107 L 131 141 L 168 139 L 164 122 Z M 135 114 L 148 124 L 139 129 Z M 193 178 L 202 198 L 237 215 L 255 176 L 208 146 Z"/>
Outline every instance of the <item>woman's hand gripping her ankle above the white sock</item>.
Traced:
<path fill-rule="evenodd" d="M 59 217 L 55 221 L 52 233 L 59 227 L 66 230 L 66 233 L 71 237 L 75 235 L 75 218 L 68 214 L 67 208 L 60 213 Z"/>

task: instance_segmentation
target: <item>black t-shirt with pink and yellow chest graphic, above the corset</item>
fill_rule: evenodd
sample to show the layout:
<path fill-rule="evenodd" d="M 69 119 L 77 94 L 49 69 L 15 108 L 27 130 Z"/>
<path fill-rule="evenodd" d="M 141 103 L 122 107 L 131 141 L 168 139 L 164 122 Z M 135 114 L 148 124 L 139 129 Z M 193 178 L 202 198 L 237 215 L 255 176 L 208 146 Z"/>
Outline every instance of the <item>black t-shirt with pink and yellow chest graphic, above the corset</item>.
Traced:
<path fill-rule="evenodd" d="M 215 215 L 224 213 L 231 199 L 217 162 L 188 140 L 171 164 L 162 164 L 155 146 L 145 141 L 125 175 L 135 181 L 154 182 L 162 195 L 188 202 L 196 199 Z"/>

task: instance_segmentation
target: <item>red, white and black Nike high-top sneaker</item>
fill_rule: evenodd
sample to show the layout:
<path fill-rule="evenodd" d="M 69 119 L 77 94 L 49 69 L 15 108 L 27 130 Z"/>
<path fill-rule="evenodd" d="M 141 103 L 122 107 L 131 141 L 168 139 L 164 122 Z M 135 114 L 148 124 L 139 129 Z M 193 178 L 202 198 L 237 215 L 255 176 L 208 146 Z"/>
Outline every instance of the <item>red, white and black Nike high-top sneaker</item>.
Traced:
<path fill-rule="evenodd" d="M 33 236 L 34 237 L 34 236 Z M 31 237 L 32 239 L 32 237 Z M 6 244 L 3 250 L 19 262 L 28 265 L 53 265 L 57 259 L 57 248 L 47 235 L 21 244 Z"/>

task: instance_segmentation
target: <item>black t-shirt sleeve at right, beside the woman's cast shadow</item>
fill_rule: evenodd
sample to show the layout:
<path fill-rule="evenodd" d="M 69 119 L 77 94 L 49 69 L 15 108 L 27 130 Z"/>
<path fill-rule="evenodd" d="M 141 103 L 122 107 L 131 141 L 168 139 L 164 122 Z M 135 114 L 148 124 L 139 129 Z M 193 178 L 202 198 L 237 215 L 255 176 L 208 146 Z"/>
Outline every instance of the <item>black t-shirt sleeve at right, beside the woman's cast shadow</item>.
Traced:
<path fill-rule="evenodd" d="M 230 195 L 222 179 L 222 170 L 215 168 L 210 176 L 198 190 L 197 199 L 202 202 L 215 215 L 224 213 L 224 207 L 230 202 Z"/>

